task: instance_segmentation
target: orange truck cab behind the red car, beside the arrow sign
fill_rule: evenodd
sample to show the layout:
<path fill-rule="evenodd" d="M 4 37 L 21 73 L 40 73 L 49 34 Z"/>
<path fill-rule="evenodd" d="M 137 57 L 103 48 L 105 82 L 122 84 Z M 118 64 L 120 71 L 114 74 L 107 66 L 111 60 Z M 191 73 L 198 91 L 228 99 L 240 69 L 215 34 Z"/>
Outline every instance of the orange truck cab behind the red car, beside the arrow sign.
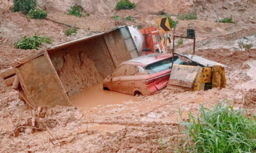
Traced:
<path fill-rule="evenodd" d="M 162 52 L 161 37 L 157 28 L 142 28 L 140 32 L 143 35 L 143 48 L 140 55 Z"/>

